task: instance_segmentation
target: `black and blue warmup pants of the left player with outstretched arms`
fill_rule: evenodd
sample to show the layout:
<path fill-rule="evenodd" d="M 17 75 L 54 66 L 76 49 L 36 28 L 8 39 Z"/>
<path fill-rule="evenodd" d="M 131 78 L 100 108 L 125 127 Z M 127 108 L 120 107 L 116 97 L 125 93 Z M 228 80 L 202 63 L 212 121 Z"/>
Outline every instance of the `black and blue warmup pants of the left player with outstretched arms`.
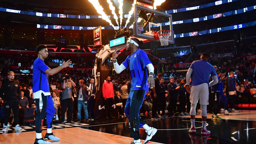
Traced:
<path fill-rule="evenodd" d="M 43 103 L 43 108 L 42 111 L 40 112 L 39 108 L 39 98 L 36 98 L 36 116 L 35 116 L 35 126 L 36 126 L 36 133 L 41 133 L 42 128 L 43 128 L 43 121 L 44 117 L 46 115 L 46 123 L 47 123 L 47 128 L 52 128 L 52 120 L 53 116 L 55 113 L 55 108 L 53 105 L 53 100 L 52 96 L 45 96 L 42 93 L 42 103 Z"/>

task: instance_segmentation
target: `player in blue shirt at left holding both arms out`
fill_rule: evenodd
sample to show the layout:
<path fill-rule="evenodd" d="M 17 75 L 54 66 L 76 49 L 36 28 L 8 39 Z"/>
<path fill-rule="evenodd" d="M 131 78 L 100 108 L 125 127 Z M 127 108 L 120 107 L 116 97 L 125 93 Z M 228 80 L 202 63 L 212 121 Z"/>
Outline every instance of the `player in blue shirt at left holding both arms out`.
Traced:
<path fill-rule="evenodd" d="M 50 95 L 48 75 L 54 75 L 63 68 L 68 67 L 69 64 L 71 64 L 71 61 L 64 61 L 61 66 L 58 66 L 54 69 L 50 69 L 44 63 L 44 59 L 48 57 L 47 47 L 43 44 L 40 44 L 36 47 L 36 52 L 38 54 L 38 58 L 34 61 L 33 64 L 33 95 L 37 107 L 35 116 L 36 140 L 34 144 L 51 144 L 51 142 L 48 142 L 44 139 L 59 141 L 60 138 L 55 137 L 52 133 L 52 119 L 55 113 L 55 109 L 52 97 Z M 47 122 L 47 133 L 43 139 L 42 127 L 45 115 Z"/>

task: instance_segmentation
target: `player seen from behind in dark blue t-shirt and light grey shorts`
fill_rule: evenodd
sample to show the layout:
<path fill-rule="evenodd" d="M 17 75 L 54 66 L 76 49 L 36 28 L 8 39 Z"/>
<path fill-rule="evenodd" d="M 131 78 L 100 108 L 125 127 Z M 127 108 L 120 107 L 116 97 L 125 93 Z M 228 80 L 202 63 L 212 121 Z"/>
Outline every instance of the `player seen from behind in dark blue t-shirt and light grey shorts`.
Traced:
<path fill-rule="evenodd" d="M 192 62 L 190 68 L 188 69 L 186 80 L 187 85 L 190 83 L 190 77 L 192 76 L 191 87 L 187 86 L 187 91 L 190 92 L 190 102 L 191 102 L 191 128 L 188 131 L 189 133 L 196 133 L 196 127 L 194 126 L 195 116 L 196 116 L 196 105 L 198 99 L 200 98 L 201 104 L 201 116 L 202 116 L 202 125 L 203 129 L 201 134 L 208 135 L 210 131 L 206 129 L 206 120 L 207 120 L 207 105 L 209 104 L 209 90 L 208 86 L 213 86 L 218 83 L 218 75 L 214 67 L 208 63 L 210 55 L 203 53 L 201 55 L 201 60 L 196 60 Z M 193 74 L 192 74 L 193 73 Z M 209 76 L 212 76 L 212 81 L 209 83 Z"/>

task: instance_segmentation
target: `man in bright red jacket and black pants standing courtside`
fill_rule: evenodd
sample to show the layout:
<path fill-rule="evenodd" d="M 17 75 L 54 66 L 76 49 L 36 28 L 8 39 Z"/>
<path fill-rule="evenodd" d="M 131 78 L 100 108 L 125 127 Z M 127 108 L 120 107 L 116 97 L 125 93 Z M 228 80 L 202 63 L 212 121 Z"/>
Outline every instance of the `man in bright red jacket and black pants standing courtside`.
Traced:
<path fill-rule="evenodd" d="M 103 83 L 102 85 L 102 94 L 103 98 L 105 100 L 105 114 L 106 114 L 106 119 L 108 119 L 108 116 L 111 118 L 113 117 L 111 114 L 111 107 L 113 105 L 113 100 L 114 100 L 114 88 L 113 88 L 113 83 L 110 81 L 110 76 L 107 76 L 107 81 Z"/>

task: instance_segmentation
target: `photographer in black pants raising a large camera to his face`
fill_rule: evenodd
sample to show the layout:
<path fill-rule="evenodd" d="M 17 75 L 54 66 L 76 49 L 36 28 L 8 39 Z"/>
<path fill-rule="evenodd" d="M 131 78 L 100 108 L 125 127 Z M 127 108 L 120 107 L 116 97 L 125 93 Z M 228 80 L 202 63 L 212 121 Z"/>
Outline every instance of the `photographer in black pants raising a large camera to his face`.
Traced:
<path fill-rule="evenodd" d="M 72 121 L 72 115 L 73 115 L 73 101 L 74 98 L 72 96 L 72 89 L 73 87 L 76 86 L 75 82 L 72 81 L 70 79 L 70 76 L 68 74 L 65 74 L 63 76 L 63 82 L 61 83 L 62 86 L 62 97 L 61 97 L 61 107 L 62 107 L 62 111 L 61 111 L 61 119 L 60 119 L 60 123 L 61 124 L 65 124 L 64 123 L 64 119 L 65 119 L 65 112 L 66 109 L 68 108 L 68 123 L 75 123 L 74 121 Z"/>

